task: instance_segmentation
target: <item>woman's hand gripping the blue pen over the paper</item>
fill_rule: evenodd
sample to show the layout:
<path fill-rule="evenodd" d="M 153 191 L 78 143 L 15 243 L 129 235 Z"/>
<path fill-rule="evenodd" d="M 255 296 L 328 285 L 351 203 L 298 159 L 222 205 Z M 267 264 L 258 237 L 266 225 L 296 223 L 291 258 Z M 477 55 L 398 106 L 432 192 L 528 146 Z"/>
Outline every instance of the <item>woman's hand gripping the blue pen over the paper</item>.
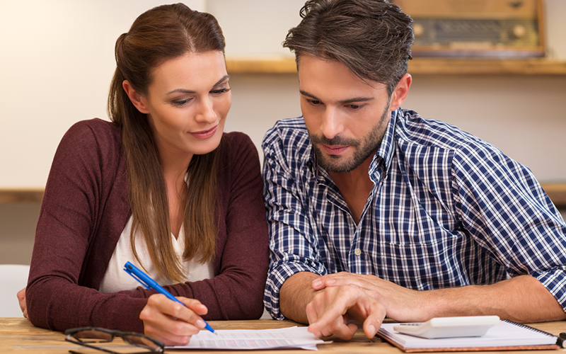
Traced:
<path fill-rule="evenodd" d="M 205 326 L 200 317 L 208 309 L 196 299 L 178 297 L 187 307 L 168 299 L 165 295 L 154 294 L 147 299 L 139 319 L 144 321 L 146 336 L 162 341 L 166 346 L 183 346 Z"/>

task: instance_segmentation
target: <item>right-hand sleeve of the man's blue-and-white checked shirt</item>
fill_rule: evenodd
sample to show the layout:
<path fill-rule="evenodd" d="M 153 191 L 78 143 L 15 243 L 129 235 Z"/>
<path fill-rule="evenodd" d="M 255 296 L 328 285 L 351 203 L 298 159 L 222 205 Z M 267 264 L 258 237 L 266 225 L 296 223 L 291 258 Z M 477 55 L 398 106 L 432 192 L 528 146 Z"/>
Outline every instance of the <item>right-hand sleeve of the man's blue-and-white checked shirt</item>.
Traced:
<path fill-rule="evenodd" d="M 531 171 L 497 149 L 456 156 L 466 229 L 511 276 L 539 280 L 566 312 L 566 224 Z"/>

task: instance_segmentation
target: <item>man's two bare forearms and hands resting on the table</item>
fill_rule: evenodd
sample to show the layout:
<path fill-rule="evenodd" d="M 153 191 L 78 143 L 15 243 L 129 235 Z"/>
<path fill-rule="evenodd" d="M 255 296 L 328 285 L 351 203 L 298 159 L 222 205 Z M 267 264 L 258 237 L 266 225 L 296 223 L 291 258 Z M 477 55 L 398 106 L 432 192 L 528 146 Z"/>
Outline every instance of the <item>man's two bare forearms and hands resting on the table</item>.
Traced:
<path fill-rule="evenodd" d="M 403 322 L 480 315 L 524 323 L 566 319 L 553 295 L 529 275 L 492 285 L 416 291 L 375 275 L 335 273 L 321 277 L 303 272 L 288 278 L 280 295 L 282 314 L 287 318 L 308 321 L 308 330 L 316 336 L 335 334 L 344 339 L 355 333 L 352 319 L 363 322 L 366 336 L 372 336 L 386 315 Z M 301 316 L 305 312 L 306 319 Z"/>

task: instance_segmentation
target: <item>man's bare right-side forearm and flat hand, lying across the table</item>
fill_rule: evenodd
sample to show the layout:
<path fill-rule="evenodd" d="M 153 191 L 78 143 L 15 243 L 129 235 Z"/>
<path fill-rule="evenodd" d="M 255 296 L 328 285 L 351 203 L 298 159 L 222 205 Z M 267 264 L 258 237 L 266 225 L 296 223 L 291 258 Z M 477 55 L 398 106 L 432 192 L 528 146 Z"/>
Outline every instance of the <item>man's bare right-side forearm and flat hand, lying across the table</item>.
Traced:
<path fill-rule="evenodd" d="M 385 307 L 387 316 L 401 322 L 424 322 L 433 317 L 497 315 L 529 323 L 566 319 L 562 306 L 530 275 L 492 285 L 468 285 L 438 290 L 410 290 L 375 275 L 335 273 L 312 280 L 313 290 L 352 285 Z"/>

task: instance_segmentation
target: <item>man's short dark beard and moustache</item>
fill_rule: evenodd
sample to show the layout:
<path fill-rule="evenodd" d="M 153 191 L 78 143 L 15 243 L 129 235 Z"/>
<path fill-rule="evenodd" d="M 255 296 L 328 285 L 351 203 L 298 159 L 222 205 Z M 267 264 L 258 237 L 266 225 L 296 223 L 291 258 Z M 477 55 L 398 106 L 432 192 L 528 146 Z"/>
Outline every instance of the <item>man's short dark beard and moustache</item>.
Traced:
<path fill-rule="evenodd" d="M 362 141 L 359 139 L 344 139 L 339 135 L 332 139 L 328 139 L 324 135 L 312 135 L 311 132 L 308 132 L 308 135 L 311 137 L 318 165 L 328 172 L 336 173 L 347 173 L 357 169 L 357 167 L 366 161 L 369 156 L 376 152 L 377 148 L 381 144 L 381 139 L 383 139 L 383 133 L 385 130 L 385 128 L 382 128 L 381 126 L 383 125 L 383 122 L 386 122 L 386 118 L 391 116 L 388 108 L 389 105 L 387 104 L 385 111 L 383 111 L 383 114 L 379 119 L 379 123 L 375 125 L 374 129 L 372 129 Z M 324 154 L 320 147 L 318 147 L 318 144 L 330 146 L 350 145 L 351 147 L 354 147 L 354 154 L 350 159 L 344 159 L 342 156 L 338 155 Z"/>

